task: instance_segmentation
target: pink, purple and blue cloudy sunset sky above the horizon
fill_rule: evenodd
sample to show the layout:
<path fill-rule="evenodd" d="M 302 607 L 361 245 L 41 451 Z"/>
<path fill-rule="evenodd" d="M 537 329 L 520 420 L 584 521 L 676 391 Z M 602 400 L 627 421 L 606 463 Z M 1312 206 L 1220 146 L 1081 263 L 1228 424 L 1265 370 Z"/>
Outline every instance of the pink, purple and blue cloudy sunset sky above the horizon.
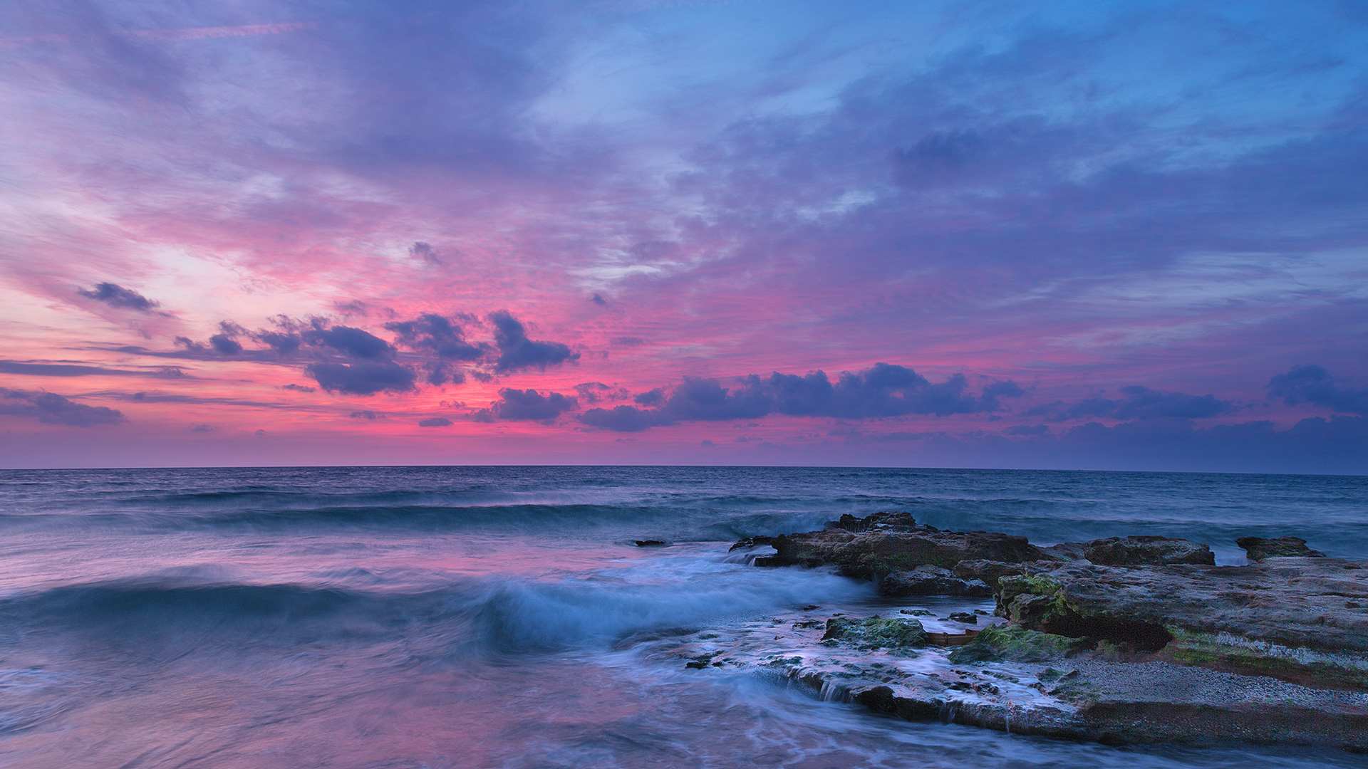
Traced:
<path fill-rule="evenodd" d="M 16 0 L 0 467 L 1368 473 L 1368 5 Z"/>

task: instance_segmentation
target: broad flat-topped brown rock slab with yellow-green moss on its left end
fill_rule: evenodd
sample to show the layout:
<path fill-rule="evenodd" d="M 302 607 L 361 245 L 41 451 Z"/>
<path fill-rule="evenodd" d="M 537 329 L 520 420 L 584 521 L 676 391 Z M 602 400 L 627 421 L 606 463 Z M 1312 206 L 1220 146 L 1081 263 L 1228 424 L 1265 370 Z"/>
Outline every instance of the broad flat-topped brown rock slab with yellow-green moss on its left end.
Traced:
<path fill-rule="evenodd" d="M 1016 627 L 1105 640 L 1122 654 L 1161 650 L 1215 669 L 1368 687 L 1368 610 L 1358 608 L 1368 605 L 1364 564 L 1324 557 L 1246 566 L 1062 564 L 1003 576 L 995 598 L 997 613 Z"/>

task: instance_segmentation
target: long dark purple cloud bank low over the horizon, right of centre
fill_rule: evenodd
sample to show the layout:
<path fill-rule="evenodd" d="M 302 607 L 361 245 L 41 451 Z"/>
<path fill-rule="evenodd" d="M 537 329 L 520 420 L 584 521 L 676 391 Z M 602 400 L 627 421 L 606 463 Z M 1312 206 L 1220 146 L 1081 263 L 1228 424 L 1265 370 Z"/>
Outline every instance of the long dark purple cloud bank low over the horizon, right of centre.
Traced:
<path fill-rule="evenodd" d="M 911 368 L 886 363 L 841 372 L 834 383 L 824 371 L 803 376 L 777 371 L 766 378 L 752 374 L 732 387 L 722 387 L 717 379 L 685 378 L 668 397 L 658 389 L 633 398 L 654 409 L 627 405 L 590 409 L 580 421 L 606 430 L 639 431 L 676 421 L 757 419 L 770 413 L 836 419 L 947 416 L 993 412 L 1001 408 L 1000 398 L 1022 395 L 1022 389 L 1010 379 L 986 384 L 978 395 L 967 389 L 969 379 L 963 374 L 932 383 Z"/>

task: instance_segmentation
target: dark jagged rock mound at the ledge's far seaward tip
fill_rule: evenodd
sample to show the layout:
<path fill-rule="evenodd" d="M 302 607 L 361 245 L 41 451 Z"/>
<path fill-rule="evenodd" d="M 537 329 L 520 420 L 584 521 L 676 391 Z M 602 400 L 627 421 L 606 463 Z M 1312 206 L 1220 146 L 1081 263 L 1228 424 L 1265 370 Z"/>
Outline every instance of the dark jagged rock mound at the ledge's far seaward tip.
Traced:
<path fill-rule="evenodd" d="M 763 558 L 765 565 L 834 564 L 841 573 L 860 579 L 880 579 L 922 565 L 948 569 L 966 560 L 1019 562 L 1044 557 L 1025 536 L 940 531 L 918 525 L 907 513 L 841 516 L 829 528 L 781 535 L 767 543 L 778 553 Z"/>

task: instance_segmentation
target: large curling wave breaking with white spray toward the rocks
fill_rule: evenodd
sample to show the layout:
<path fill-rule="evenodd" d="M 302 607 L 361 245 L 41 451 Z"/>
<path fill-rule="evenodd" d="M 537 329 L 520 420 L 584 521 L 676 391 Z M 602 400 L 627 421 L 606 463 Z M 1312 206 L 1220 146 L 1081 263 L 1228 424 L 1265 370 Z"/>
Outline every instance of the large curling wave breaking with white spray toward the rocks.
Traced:
<path fill-rule="evenodd" d="M 873 587 L 821 571 L 746 569 L 536 582 L 471 577 L 417 591 L 309 583 L 197 583 L 176 577 L 60 586 L 0 599 L 10 642 L 85 640 L 105 649 L 404 643 L 430 657 L 605 647 L 811 601 L 854 601 Z"/>

